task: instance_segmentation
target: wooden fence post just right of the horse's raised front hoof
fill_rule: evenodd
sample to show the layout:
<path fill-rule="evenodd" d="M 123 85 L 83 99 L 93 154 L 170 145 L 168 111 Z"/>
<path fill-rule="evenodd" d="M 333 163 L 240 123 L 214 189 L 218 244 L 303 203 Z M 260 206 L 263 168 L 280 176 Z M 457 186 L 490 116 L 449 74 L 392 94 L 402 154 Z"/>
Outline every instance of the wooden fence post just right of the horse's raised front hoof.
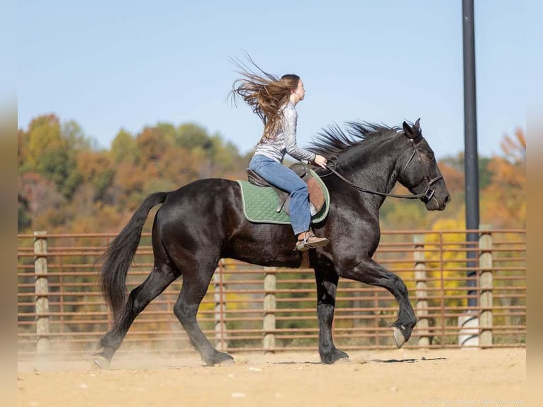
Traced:
<path fill-rule="evenodd" d="M 417 302 L 415 304 L 415 315 L 417 316 L 417 330 L 418 330 L 418 345 L 421 347 L 427 347 L 430 345 L 430 331 L 428 330 L 428 301 L 427 297 L 427 284 L 426 284 L 426 263 L 424 254 L 424 235 L 414 235 L 413 241 L 415 242 L 415 297 Z"/>

